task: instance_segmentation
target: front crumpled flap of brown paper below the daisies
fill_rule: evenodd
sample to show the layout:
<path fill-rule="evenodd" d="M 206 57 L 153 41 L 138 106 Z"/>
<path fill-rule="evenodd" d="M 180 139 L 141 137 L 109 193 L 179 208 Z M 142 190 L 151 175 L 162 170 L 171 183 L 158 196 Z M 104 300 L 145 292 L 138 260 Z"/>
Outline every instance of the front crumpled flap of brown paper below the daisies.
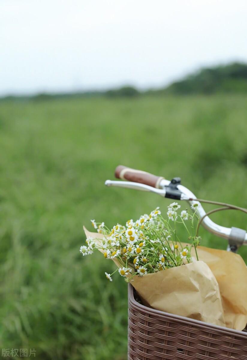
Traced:
<path fill-rule="evenodd" d="M 134 276 L 131 283 L 145 305 L 156 310 L 225 326 L 219 285 L 203 261 Z"/>

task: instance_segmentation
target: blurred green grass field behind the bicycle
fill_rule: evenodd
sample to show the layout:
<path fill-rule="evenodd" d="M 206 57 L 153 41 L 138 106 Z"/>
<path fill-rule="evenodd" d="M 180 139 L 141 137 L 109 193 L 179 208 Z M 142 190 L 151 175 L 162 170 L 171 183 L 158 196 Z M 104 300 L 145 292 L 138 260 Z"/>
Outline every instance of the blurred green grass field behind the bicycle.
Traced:
<path fill-rule="evenodd" d="M 106 188 L 117 165 L 180 176 L 198 197 L 246 206 L 244 95 L 0 103 L 0 347 L 36 359 L 125 360 L 127 285 L 82 226 L 109 226 L 169 200 Z M 185 205 L 184 205 L 185 206 Z M 210 207 L 206 207 L 209 209 Z M 212 215 L 246 229 L 237 211 Z M 203 229 L 202 244 L 225 249 Z M 247 260 L 247 248 L 241 250 Z"/>

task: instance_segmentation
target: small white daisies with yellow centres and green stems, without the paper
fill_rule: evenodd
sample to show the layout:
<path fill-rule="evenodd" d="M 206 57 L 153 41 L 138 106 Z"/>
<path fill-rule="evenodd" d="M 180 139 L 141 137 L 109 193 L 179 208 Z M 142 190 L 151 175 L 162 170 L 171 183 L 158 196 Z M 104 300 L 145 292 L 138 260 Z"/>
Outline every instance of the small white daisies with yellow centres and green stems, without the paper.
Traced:
<path fill-rule="evenodd" d="M 200 204 L 195 203 L 193 208 L 197 206 Z M 196 250 L 199 243 L 195 236 L 198 217 L 188 209 L 181 212 L 179 209 L 180 205 L 173 202 L 168 206 L 166 218 L 157 207 L 149 215 L 144 214 L 136 221 L 128 220 L 125 226 L 116 224 L 112 229 L 104 222 L 91 220 L 99 235 L 87 237 L 87 246 L 81 246 L 80 252 L 88 255 L 95 249 L 100 250 L 106 259 L 115 260 L 118 268 L 114 273 L 118 272 L 127 282 L 134 275 L 144 276 L 188 264 L 192 262 L 191 248 Z M 181 243 L 177 235 L 179 225 L 184 226 L 183 241 L 188 240 L 190 244 Z M 114 273 L 105 273 L 106 278 L 112 281 Z"/>

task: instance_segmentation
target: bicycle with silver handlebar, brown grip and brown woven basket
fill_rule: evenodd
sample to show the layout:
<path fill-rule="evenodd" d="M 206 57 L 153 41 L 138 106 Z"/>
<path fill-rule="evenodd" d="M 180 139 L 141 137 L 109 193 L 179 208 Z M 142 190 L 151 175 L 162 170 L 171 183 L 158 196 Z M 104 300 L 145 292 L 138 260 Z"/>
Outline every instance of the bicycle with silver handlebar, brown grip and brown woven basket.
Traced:
<path fill-rule="evenodd" d="M 205 212 L 202 206 L 195 210 L 202 224 L 212 234 L 228 239 L 227 251 L 237 252 L 247 245 L 247 233 L 239 228 L 215 224 L 208 215 L 228 209 L 247 210 L 231 204 L 197 199 L 179 177 L 171 181 L 162 176 L 135 170 L 122 165 L 115 176 L 127 181 L 106 180 L 106 186 L 118 186 L 154 192 L 162 197 L 220 205 Z M 202 321 L 184 318 L 146 307 L 140 303 L 131 284 L 128 285 L 128 360 L 247 360 L 247 331 L 223 328 Z"/>

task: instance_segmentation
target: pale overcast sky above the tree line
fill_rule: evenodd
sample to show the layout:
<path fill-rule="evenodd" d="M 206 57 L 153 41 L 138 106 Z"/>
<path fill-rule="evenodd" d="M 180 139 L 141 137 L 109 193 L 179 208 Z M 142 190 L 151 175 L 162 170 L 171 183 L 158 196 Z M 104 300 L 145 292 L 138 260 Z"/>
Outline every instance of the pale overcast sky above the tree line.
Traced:
<path fill-rule="evenodd" d="M 233 60 L 246 0 L 0 0 L 0 95 L 157 87 Z"/>

